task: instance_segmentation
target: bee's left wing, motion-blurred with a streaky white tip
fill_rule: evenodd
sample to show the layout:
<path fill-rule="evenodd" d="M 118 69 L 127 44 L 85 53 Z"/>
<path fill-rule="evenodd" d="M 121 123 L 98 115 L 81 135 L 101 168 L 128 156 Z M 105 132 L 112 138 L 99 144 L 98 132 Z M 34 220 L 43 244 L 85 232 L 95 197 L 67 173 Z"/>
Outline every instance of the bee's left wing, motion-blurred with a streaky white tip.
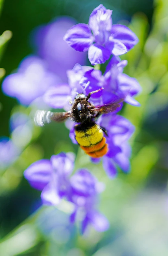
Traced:
<path fill-rule="evenodd" d="M 37 126 L 43 126 L 44 124 L 49 124 L 52 121 L 62 122 L 70 116 L 70 111 L 54 113 L 51 111 L 37 110 L 34 116 L 34 123 Z"/>

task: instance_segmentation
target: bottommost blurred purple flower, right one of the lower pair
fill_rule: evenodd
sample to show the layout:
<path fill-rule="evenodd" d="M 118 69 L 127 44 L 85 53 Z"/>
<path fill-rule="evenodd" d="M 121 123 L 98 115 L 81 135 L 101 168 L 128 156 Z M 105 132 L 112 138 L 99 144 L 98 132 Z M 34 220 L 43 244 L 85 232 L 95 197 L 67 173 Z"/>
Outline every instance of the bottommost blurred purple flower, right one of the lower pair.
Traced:
<path fill-rule="evenodd" d="M 82 234 L 88 225 L 92 225 L 97 231 L 103 232 L 108 229 L 107 219 L 96 210 L 98 194 L 102 192 L 102 184 L 86 169 L 80 169 L 70 180 L 72 194 L 71 201 L 76 209 L 71 215 L 71 221 L 75 221 L 79 214 L 82 219 Z"/>

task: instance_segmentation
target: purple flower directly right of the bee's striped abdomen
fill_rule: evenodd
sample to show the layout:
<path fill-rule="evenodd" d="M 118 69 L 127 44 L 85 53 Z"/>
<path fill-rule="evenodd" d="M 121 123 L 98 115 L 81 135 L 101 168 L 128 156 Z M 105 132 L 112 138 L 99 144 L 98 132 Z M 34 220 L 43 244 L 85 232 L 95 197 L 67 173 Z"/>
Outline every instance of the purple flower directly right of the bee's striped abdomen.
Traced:
<path fill-rule="evenodd" d="M 111 178 L 117 174 L 117 166 L 124 172 L 130 169 L 129 157 L 131 147 L 128 143 L 133 134 L 134 126 L 123 116 L 106 114 L 99 118 L 100 126 L 107 130 L 105 135 L 109 151 L 103 156 L 103 167 L 107 175 Z"/>

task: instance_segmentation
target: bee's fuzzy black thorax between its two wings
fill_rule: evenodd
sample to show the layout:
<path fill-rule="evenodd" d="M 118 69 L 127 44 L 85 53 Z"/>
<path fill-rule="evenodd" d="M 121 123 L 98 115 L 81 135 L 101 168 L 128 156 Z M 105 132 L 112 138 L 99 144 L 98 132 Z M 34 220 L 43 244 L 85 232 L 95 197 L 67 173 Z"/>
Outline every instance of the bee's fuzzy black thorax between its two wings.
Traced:
<path fill-rule="evenodd" d="M 78 99 L 72 105 L 71 108 L 71 120 L 76 123 L 81 123 L 82 126 L 91 124 L 92 118 L 95 117 L 96 111 L 93 111 L 94 105 L 86 99 Z"/>

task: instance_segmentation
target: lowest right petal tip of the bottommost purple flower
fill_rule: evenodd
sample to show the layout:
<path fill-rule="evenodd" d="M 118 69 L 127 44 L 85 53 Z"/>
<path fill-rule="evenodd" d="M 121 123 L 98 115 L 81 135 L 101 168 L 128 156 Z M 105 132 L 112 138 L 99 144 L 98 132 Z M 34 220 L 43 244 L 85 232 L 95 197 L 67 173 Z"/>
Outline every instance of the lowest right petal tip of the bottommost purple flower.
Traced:
<path fill-rule="evenodd" d="M 104 215 L 94 211 L 89 214 L 90 222 L 98 232 L 104 232 L 109 228 L 109 222 Z"/>

